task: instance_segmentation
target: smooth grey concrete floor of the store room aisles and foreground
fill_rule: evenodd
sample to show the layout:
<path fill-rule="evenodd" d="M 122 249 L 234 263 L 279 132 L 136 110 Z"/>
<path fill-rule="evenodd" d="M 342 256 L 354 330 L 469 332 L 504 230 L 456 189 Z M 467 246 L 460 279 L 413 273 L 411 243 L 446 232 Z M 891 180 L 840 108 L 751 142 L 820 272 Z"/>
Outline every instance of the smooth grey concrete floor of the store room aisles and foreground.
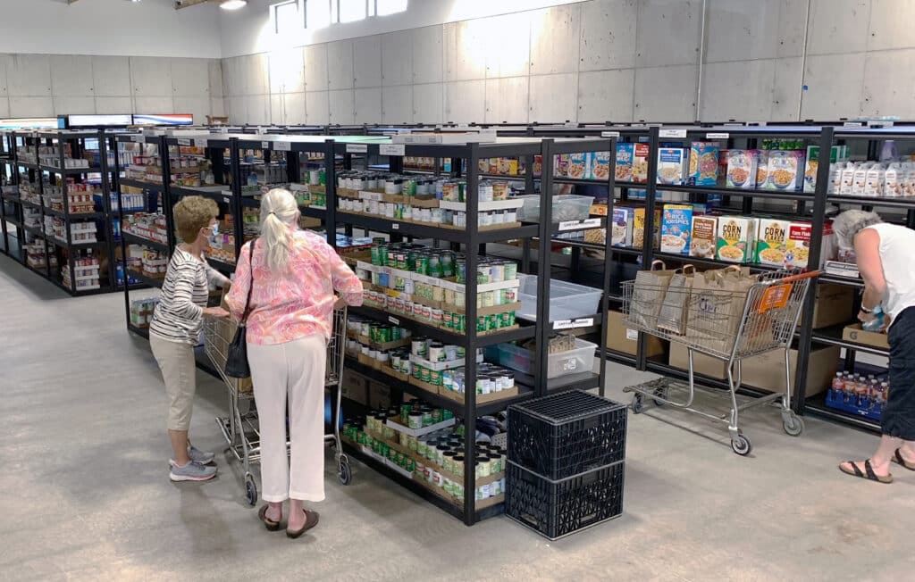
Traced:
<path fill-rule="evenodd" d="M 748 418 L 747 459 L 704 421 L 630 417 L 625 514 L 559 542 L 504 517 L 468 528 L 358 463 L 349 487 L 328 468 L 321 524 L 291 541 L 264 531 L 223 458 L 216 481 L 168 481 L 163 388 L 122 295 L 70 299 L 0 257 L 0 314 L 3 580 L 903 580 L 915 566 L 915 473 L 844 477 L 836 462 L 873 436 L 809 418 L 792 439 L 773 410 Z M 610 383 L 642 377 L 614 367 Z M 221 450 L 224 390 L 202 373 L 198 390 L 192 436 Z"/>

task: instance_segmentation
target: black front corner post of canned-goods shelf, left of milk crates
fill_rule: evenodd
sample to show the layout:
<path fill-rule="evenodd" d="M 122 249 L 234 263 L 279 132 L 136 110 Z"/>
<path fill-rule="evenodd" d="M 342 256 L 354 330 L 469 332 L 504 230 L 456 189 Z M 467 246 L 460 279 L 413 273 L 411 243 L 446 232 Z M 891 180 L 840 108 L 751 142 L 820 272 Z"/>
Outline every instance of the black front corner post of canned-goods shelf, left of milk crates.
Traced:
<path fill-rule="evenodd" d="M 467 277 L 464 281 L 464 302 L 467 317 L 467 367 L 464 371 L 464 523 L 473 525 L 477 523 L 477 267 L 479 249 L 479 225 L 477 221 L 479 212 L 479 143 L 468 144 L 467 193 L 467 226 L 464 228 L 467 235 Z"/>

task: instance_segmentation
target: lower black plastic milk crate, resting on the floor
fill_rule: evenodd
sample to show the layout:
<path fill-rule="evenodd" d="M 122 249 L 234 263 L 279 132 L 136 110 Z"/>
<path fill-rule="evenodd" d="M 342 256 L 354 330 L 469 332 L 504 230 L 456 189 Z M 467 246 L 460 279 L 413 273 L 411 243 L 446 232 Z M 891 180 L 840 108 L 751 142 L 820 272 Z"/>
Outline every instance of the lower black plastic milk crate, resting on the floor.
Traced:
<path fill-rule="evenodd" d="M 551 540 L 623 513 L 626 462 L 551 481 L 511 462 L 505 474 L 505 513 Z"/>

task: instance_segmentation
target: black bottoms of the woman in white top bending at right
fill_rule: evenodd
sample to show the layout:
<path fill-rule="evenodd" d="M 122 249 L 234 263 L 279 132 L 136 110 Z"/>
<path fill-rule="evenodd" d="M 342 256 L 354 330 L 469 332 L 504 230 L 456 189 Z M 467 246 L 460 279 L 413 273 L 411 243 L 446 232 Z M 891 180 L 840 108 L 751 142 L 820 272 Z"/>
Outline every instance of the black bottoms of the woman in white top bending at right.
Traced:
<path fill-rule="evenodd" d="M 889 326 L 889 397 L 881 429 L 889 437 L 915 440 L 915 307 Z"/>

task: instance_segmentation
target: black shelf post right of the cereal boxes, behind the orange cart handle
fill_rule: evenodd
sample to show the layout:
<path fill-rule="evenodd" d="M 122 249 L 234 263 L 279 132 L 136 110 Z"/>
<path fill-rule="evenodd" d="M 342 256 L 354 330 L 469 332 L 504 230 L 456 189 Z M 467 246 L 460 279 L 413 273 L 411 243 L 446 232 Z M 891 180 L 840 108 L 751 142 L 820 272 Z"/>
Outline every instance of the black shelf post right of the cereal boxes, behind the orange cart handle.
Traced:
<path fill-rule="evenodd" d="M 813 236 L 810 240 L 810 254 L 807 268 L 819 269 L 820 255 L 823 252 L 823 224 L 826 221 L 826 189 L 829 185 L 829 154 L 833 147 L 833 128 L 824 126 L 820 132 L 820 160 L 816 169 L 816 189 L 813 195 Z M 825 162 L 823 162 L 825 160 Z M 794 402 L 791 407 L 802 413 L 804 398 L 807 392 L 807 365 L 810 359 L 811 338 L 813 336 L 813 309 L 816 305 L 817 279 L 810 281 L 807 297 L 804 298 L 801 318 L 801 338 L 798 342 L 797 370 L 794 375 Z M 787 362 L 786 362 L 787 365 Z"/>

